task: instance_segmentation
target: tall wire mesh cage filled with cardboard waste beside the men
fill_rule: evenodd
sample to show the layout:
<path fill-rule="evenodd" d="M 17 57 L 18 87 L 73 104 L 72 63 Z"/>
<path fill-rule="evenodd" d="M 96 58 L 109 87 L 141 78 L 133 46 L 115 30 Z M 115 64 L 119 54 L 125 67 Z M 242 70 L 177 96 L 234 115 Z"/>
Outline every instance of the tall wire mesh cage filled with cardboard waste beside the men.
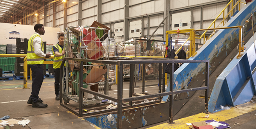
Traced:
<path fill-rule="evenodd" d="M 78 59 L 109 59 L 109 34 L 105 28 L 93 28 L 87 26 L 67 27 L 64 31 L 64 47 L 66 57 Z M 82 87 L 101 94 L 108 95 L 108 64 L 81 62 L 68 60 L 64 66 L 63 95 L 65 99 L 79 101 L 80 71 L 83 73 Z M 82 67 L 80 67 L 82 66 Z M 69 76 L 67 76 L 69 75 Z M 101 98 L 90 93 L 83 92 L 83 104 L 101 103 Z"/>

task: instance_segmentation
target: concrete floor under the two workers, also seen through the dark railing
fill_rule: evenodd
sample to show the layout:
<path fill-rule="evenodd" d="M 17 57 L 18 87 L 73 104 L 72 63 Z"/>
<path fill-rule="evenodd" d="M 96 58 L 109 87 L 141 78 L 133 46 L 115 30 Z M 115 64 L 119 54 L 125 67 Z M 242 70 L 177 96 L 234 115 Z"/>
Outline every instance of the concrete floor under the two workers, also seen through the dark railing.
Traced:
<path fill-rule="evenodd" d="M 11 75 L 11 74 L 10 74 Z M 11 75 L 12 76 L 12 75 Z M 138 82 L 137 86 L 140 86 Z M 29 119 L 31 122 L 25 127 L 15 125 L 10 129 L 76 129 L 87 127 L 87 129 L 99 129 L 88 121 L 83 121 L 78 116 L 69 112 L 59 105 L 55 100 L 54 79 L 46 78 L 42 84 L 39 97 L 48 104 L 47 108 L 32 108 L 27 104 L 31 94 L 32 81 L 28 80 L 29 89 L 23 89 L 23 80 L 0 81 L 0 118 L 9 115 L 10 118 L 20 120 Z M 146 80 L 146 85 L 158 84 L 158 80 Z M 124 82 L 124 97 L 129 95 L 129 81 Z M 145 87 L 148 93 L 157 93 L 158 87 Z M 135 93 L 141 93 L 142 88 L 136 88 Z M 109 95 L 117 97 L 117 86 L 112 85 Z"/>

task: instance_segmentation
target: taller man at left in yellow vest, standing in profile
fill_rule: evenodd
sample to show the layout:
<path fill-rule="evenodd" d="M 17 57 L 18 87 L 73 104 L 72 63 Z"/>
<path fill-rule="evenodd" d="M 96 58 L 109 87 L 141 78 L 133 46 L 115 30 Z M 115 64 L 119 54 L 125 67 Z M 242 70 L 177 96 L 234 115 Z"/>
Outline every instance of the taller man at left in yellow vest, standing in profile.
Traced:
<path fill-rule="evenodd" d="M 28 42 L 27 64 L 30 64 L 32 70 L 32 93 L 27 103 L 32 104 L 32 107 L 47 107 L 48 105 L 43 103 L 38 94 L 44 80 L 44 57 L 49 58 L 51 54 L 44 53 L 44 42 L 40 37 L 40 35 L 44 35 L 44 25 L 36 24 L 34 30 L 35 34 L 30 37 Z"/>

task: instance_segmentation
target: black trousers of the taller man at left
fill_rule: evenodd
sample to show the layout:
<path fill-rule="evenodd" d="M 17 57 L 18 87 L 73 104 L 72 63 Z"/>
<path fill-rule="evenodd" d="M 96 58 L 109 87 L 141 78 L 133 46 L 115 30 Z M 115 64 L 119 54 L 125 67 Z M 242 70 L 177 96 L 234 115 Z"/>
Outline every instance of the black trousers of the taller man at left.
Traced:
<path fill-rule="evenodd" d="M 38 94 L 44 81 L 44 67 L 43 64 L 31 64 L 30 68 L 32 71 L 32 93 L 30 98 L 32 98 L 33 102 L 35 103 L 38 101 Z"/>

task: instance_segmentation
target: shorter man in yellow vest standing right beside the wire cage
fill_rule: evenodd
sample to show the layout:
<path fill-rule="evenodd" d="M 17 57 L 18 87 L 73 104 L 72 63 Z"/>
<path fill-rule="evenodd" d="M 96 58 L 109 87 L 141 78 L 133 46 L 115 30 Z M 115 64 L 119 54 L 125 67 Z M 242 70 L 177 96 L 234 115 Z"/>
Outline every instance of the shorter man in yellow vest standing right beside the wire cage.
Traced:
<path fill-rule="evenodd" d="M 63 55 L 65 54 L 64 48 L 64 34 L 58 34 L 59 42 L 52 46 L 53 52 L 53 69 L 54 69 L 54 88 L 55 88 L 55 100 L 60 100 L 60 67 L 63 60 Z"/>

